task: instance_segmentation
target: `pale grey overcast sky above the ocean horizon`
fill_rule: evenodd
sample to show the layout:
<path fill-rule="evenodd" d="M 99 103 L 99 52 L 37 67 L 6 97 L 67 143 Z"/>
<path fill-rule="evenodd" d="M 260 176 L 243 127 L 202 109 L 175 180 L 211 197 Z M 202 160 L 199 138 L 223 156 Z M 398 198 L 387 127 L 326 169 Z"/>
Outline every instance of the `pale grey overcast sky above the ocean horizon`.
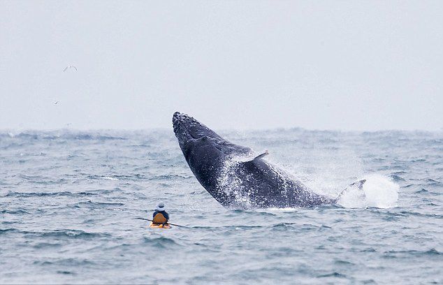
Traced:
<path fill-rule="evenodd" d="M 0 129 L 170 128 L 177 110 L 441 130 L 443 1 L 0 1 Z"/>

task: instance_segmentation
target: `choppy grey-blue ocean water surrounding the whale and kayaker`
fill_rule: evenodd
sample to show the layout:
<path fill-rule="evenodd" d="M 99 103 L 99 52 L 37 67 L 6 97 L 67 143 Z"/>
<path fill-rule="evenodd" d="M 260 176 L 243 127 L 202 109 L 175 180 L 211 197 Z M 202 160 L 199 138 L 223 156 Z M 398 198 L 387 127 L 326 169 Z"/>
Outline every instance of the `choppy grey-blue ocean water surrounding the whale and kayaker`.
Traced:
<path fill-rule="evenodd" d="M 441 284 L 443 133 L 222 131 L 339 205 L 226 209 L 170 130 L 1 131 L 0 284 Z M 164 201 L 170 221 L 150 229 Z"/>

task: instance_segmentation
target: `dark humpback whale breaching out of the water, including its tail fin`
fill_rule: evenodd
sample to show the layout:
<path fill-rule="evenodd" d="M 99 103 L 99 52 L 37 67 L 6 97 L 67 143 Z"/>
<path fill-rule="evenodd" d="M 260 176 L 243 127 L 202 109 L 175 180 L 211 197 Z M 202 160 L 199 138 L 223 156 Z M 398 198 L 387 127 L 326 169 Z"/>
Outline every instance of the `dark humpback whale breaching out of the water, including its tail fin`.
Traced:
<path fill-rule="evenodd" d="M 314 207 L 337 199 L 314 193 L 249 147 L 228 142 L 193 117 L 175 112 L 173 129 L 198 182 L 225 207 Z M 365 180 L 358 183 L 361 189 Z"/>

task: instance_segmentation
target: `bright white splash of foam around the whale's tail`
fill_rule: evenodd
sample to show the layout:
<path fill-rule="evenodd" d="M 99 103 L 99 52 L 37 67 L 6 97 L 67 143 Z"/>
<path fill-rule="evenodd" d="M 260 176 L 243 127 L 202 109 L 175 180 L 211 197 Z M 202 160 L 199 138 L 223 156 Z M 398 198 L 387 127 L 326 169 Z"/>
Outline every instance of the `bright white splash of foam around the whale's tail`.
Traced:
<path fill-rule="evenodd" d="M 378 174 L 365 175 L 362 177 L 366 182 L 363 189 L 349 187 L 338 200 L 343 207 L 395 207 L 398 200 L 400 187 L 388 177 Z"/>

